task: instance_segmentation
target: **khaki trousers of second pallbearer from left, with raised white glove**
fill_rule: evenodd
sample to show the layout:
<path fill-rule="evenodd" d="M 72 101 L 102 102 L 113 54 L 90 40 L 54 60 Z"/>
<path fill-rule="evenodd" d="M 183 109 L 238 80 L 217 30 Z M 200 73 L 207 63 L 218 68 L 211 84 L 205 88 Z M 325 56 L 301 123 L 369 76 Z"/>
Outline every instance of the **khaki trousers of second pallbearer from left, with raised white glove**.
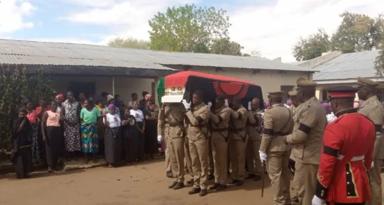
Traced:
<path fill-rule="evenodd" d="M 194 173 L 194 188 L 207 189 L 208 174 L 208 140 L 190 140 L 189 152 Z"/>

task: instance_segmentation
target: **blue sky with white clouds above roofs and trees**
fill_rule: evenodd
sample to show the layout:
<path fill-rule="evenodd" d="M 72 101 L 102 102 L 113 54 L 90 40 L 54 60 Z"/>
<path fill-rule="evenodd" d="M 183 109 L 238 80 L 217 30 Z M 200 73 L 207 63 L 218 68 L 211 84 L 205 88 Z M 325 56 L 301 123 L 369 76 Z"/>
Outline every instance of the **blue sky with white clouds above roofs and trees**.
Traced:
<path fill-rule="evenodd" d="M 344 11 L 372 17 L 383 0 L 0 0 L 0 38 L 106 45 L 114 37 L 149 39 L 148 20 L 167 7 L 195 4 L 227 11 L 229 36 L 245 53 L 294 61 L 301 36 L 332 34 Z"/>

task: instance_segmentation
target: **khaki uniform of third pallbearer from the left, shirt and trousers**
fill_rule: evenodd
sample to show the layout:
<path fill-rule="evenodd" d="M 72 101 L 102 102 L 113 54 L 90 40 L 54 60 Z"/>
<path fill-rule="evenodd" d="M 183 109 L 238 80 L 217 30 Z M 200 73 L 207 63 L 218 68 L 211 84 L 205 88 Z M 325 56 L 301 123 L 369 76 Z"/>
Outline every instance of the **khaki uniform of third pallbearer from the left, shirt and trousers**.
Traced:
<path fill-rule="evenodd" d="M 227 185 L 228 125 L 232 109 L 223 106 L 210 114 L 212 120 L 212 156 L 215 165 L 215 183 Z"/>

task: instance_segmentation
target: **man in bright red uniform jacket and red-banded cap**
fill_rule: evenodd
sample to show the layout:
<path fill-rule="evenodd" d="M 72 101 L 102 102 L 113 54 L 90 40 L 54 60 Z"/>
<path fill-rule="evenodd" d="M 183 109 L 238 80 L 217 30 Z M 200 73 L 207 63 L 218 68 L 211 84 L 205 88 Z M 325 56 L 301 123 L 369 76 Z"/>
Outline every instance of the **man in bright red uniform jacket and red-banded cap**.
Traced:
<path fill-rule="evenodd" d="M 325 130 L 312 205 L 365 204 L 371 200 L 368 169 L 373 160 L 373 122 L 353 108 L 357 89 L 328 89 L 337 119 Z"/>

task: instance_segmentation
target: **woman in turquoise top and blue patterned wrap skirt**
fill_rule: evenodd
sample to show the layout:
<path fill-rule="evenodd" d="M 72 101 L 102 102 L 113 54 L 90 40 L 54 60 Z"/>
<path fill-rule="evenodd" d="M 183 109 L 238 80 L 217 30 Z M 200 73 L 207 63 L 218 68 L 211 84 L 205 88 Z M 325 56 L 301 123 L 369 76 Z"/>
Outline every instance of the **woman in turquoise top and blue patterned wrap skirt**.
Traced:
<path fill-rule="evenodd" d="M 93 162 L 96 163 L 96 154 L 99 152 L 98 121 L 101 113 L 95 108 L 93 101 L 84 101 L 85 107 L 81 110 L 81 144 L 82 152 L 85 156 L 85 163 L 89 162 L 89 153 L 92 153 Z M 101 122 L 100 122 L 101 123 Z"/>

